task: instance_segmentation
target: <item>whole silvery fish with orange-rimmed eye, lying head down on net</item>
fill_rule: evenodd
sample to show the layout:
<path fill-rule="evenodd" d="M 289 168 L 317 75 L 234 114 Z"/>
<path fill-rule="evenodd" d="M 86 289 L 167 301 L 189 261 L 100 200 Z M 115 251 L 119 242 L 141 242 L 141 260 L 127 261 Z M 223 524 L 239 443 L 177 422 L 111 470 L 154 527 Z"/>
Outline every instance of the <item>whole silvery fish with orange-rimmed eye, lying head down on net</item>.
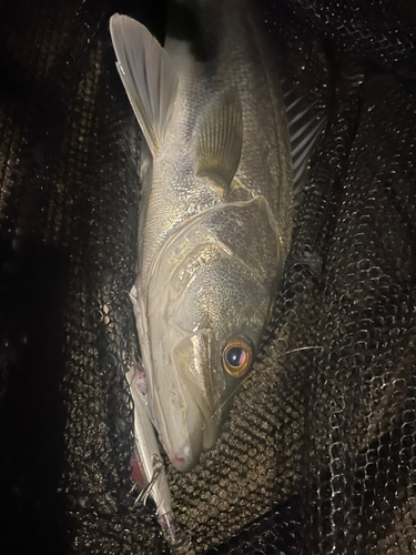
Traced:
<path fill-rule="evenodd" d="M 128 16 L 110 32 L 144 138 L 130 292 L 138 402 L 186 472 L 214 446 L 258 352 L 291 246 L 294 180 L 277 57 L 254 2 L 176 1 L 171 13 L 163 47 Z M 307 153 L 319 125 L 301 117 Z"/>

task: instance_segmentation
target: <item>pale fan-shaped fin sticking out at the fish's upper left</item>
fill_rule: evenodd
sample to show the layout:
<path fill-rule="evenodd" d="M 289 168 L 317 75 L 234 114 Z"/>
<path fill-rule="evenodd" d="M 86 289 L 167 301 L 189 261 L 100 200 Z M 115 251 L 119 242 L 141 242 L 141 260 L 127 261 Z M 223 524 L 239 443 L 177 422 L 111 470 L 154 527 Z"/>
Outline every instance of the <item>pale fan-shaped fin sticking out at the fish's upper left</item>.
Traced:
<path fill-rule="evenodd" d="M 177 74 L 168 52 L 139 21 L 115 13 L 110 33 L 130 103 L 152 154 L 156 154 L 172 115 Z"/>

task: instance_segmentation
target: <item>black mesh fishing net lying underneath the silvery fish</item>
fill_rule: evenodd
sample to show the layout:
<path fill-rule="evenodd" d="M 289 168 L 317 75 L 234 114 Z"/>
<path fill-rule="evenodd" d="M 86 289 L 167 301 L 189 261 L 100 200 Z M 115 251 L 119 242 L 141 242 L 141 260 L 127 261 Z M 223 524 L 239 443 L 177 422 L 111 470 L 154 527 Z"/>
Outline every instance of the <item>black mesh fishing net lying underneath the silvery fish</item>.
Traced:
<path fill-rule="evenodd" d="M 212 555 L 416 553 L 416 10 L 256 6 L 327 120 L 264 347 L 216 447 L 170 470 L 174 511 Z M 114 12 L 163 38 L 159 2 L 0 1 L 7 555 L 166 551 L 130 492 L 141 133 Z"/>

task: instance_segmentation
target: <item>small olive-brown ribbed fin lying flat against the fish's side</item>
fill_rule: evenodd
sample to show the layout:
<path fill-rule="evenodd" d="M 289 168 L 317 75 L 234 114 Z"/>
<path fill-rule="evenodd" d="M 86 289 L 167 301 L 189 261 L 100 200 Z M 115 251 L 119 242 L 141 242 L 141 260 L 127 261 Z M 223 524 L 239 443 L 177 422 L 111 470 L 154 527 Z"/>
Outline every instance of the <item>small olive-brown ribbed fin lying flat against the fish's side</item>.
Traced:
<path fill-rule="evenodd" d="M 239 91 L 226 90 L 203 118 L 196 147 L 196 175 L 227 189 L 237 171 L 243 145 L 243 110 Z"/>

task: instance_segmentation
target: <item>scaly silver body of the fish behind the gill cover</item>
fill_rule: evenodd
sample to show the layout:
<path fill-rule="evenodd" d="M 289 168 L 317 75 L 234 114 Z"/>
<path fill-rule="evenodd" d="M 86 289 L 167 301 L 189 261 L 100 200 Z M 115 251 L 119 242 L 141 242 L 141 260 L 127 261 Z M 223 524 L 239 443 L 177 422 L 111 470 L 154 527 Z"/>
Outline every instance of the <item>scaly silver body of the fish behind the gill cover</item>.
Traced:
<path fill-rule="evenodd" d="M 211 2 L 205 9 L 201 4 L 200 18 L 215 21 L 215 36 L 202 39 L 210 41 L 206 48 L 214 51 L 213 59 L 199 61 L 187 42 L 170 36 L 165 40 L 165 50 L 179 68 L 180 101 L 163 152 L 153 161 L 153 181 L 142 183 L 143 195 L 149 196 L 149 206 L 140 213 L 139 269 L 143 276 L 149 275 L 149 265 L 169 235 L 186 219 L 222 202 L 264 196 L 278 222 L 285 250 L 290 244 L 291 147 L 273 52 L 248 19 L 244 4 L 250 2 Z M 211 101 L 232 87 L 240 93 L 244 133 L 235 189 L 224 198 L 215 183 L 195 179 L 194 149 L 199 123 Z"/>

